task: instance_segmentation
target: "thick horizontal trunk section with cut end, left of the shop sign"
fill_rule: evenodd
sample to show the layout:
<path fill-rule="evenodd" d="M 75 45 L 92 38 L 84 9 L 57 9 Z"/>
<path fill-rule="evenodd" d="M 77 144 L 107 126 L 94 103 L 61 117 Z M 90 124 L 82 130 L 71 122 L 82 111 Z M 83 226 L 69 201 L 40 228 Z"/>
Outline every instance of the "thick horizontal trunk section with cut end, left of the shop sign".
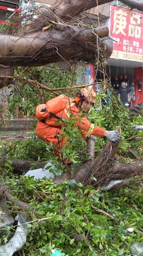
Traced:
<path fill-rule="evenodd" d="M 102 47 L 104 56 L 113 51 L 107 26 L 93 29 L 68 28 L 40 31 L 26 36 L 0 35 L 0 64 L 9 66 L 42 66 L 64 59 L 95 60 L 97 49 Z M 22 46 L 22 47 L 21 47 Z"/>

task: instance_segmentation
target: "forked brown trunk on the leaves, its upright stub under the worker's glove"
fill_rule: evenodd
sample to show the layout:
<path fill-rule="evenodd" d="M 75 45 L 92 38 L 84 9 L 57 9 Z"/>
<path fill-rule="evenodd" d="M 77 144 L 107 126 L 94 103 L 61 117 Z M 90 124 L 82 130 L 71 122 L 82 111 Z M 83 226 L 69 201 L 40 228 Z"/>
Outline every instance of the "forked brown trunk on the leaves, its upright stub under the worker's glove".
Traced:
<path fill-rule="evenodd" d="M 89 160 L 76 170 L 72 177 L 68 173 L 55 178 L 55 183 L 60 184 L 64 180 L 75 179 L 84 185 L 104 185 L 110 180 L 126 179 L 132 175 L 143 174 L 143 160 L 134 163 L 117 164 L 116 151 L 119 143 L 108 142 L 101 154 L 96 158 Z M 96 181 L 95 181 L 96 180 Z"/>

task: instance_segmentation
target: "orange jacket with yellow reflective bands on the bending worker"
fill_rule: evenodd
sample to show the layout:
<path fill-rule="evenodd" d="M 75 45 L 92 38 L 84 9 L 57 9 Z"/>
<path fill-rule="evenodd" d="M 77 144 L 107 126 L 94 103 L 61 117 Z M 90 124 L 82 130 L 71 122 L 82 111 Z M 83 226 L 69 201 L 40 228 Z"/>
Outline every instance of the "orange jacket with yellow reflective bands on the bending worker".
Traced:
<path fill-rule="evenodd" d="M 80 131 L 81 135 L 84 139 L 86 139 L 87 135 L 94 135 L 98 137 L 102 137 L 104 134 L 104 129 L 100 128 L 98 126 L 95 126 L 94 124 L 91 124 L 90 121 L 88 121 L 87 117 L 83 114 L 81 117 L 81 112 L 78 107 L 75 106 L 75 102 L 72 102 L 70 106 L 66 107 L 62 111 L 59 111 L 56 113 L 56 116 L 61 117 L 62 119 L 75 119 L 75 123 L 78 127 L 78 130 Z M 57 127 L 57 129 L 62 129 L 62 124 L 57 123 L 57 119 L 55 117 L 48 117 L 45 119 L 46 124 L 43 124 L 41 121 L 37 123 L 36 127 L 36 133 L 41 137 L 42 139 L 42 133 L 46 132 L 46 126 L 48 128 Z M 64 125 L 64 122 L 63 122 Z M 45 126 L 45 131 L 43 131 L 43 127 Z M 41 127 L 41 130 L 40 130 Z M 48 129 L 49 132 L 49 129 Z M 48 134 L 50 135 L 50 134 Z"/>

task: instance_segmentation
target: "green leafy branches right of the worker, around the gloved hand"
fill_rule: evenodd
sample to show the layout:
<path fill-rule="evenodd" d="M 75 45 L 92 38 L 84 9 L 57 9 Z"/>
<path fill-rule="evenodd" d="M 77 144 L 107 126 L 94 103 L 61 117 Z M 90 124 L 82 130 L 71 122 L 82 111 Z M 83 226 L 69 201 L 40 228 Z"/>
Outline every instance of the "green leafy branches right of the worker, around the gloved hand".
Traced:
<path fill-rule="evenodd" d="M 103 95 L 101 95 L 101 97 L 103 97 Z M 134 124 L 143 124 L 143 117 L 137 116 L 134 117 L 133 121 L 131 121 L 131 114 L 129 110 L 121 106 L 118 97 L 112 94 L 111 99 L 112 101 L 110 104 L 98 107 L 98 109 L 96 109 L 95 106 L 90 110 L 90 121 L 106 130 L 116 130 L 117 126 L 121 127 L 122 140 L 119 144 L 118 153 L 126 158 L 132 158 L 132 155 L 127 154 L 127 150 L 132 149 L 137 155 L 142 155 L 143 134 L 142 132 L 135 132 L 131 129 L 131 126 Z M 138 140 L 127 140 L 137 134 L 139 134 Z M 101 148 L 104 144 L 105 140 L 103 141 L 103 139 L 98 139 L 96 148 Z"/>

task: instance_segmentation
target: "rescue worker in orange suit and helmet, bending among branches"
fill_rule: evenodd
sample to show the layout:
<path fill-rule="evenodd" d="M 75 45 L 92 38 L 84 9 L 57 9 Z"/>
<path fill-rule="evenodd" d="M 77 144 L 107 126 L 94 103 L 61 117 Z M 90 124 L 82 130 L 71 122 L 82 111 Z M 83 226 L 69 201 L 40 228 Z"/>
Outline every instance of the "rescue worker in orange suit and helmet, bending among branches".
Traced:
<path fill-rule="evenodd" d="M 44 140 L 47 144 L 50 142 L 57 146 L 57 154 L 60 155 L 60 149 L 65 147 L 65 142 L 67 142 L 68 137 L 62 136 L 62 127 L 65 126 L 64 119 L 75 119 L 75 124 L 78 127 L 83 139 L 87 140 L 88 137 L 94 139 L 95 136 L 103 137 L 106 136 L 109 140 L 113 142 L 119 142 L 121 140 L 121 135 L 119 135 L 117 130 L 104 130 L 101 127 L 95 126 L 88 121 L 84 112 L 88 112 L 90 108 L 96 102 L 96 92 L 92 89 L 83 88 L 77 93 L 75 100 L 70 103 L 68 107 L 60 110 L 56 113 L 56 116 L 63 119 L 63 122 L 57 122 L 57 118 L 53 116 L 47 117 L 44 121 L 37 122 L 36 134 L 40 139 Z M 82 116 L 81 116 L 82 114 Z M 60 157 L 61 158 L 61 157 Z M 59 159 L 61 160 L 61 159 Z"/>

